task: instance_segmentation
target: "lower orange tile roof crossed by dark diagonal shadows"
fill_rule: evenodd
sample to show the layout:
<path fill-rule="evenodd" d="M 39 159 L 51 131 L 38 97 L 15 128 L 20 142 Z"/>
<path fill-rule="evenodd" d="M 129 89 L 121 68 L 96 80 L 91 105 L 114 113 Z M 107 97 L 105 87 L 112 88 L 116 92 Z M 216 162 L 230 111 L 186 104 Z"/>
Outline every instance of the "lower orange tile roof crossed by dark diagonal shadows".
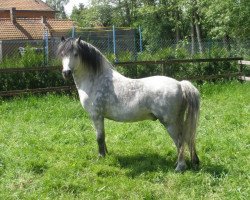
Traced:
<path fill-rule="evenodd" d="M 48 19 L 43 24 L 41 19 L 17 18 L 13 24 L 10 19 L 0 19 L 0 40 L 42 39 L 45 30 L 49 31 L 49 37 L 67 36 L 72 27 L 69 20 Z"/>

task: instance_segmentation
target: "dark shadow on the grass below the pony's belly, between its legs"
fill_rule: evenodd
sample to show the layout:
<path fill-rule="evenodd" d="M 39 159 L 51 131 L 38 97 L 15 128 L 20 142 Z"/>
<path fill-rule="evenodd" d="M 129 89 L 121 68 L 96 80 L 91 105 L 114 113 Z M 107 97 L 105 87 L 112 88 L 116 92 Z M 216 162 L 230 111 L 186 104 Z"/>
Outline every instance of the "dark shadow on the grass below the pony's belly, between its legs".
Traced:
<path fill-rule="evenodd" d="M 176 159 L 171 156 L 166 158 L 159 154 L 137 154 L 128 156 L 117 156 L 122 168 L 129 169 L 128 176 L 136 177 L 145 172 L 174 170 Z"/>

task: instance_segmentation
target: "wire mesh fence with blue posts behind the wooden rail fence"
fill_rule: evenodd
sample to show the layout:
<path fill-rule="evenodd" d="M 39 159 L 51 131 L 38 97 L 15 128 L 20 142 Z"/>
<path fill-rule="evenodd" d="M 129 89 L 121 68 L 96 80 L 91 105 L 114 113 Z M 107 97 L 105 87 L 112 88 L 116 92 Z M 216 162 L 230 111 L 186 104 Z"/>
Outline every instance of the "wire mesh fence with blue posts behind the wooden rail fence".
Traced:
<path fill-rule="evenodd" d="M 97 47 L 111 62 L 183 58 L 250 58 L 249 40 L 163 40 L 143 38 L 141 29 L 72 29 L 66 37 L 80 37 Z M 60 38 L 0 41 L 0 67 L 60 65 Z"/>

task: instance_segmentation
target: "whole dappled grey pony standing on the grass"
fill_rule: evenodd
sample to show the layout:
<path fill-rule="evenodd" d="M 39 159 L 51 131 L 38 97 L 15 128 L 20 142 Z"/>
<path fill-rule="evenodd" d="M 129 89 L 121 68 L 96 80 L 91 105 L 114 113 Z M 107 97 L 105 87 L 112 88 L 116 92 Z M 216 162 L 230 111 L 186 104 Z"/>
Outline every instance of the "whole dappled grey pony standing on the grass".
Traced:
<path fill-rule="evenodd" d="M 158 119 L 177 147 L 176 171 L 186 169 L 185 143 L 192 166 L 198 167 L 195 134 L 199 92 L 190 82 L 164 76 L 124 77 L 97 48 L 80 38 L 62 38 L 58 54 L 64 78 L 73 75 L 81 104 L 93 120 L 100 156 L 107 153 L 104 118 L 121 122 Z"/>

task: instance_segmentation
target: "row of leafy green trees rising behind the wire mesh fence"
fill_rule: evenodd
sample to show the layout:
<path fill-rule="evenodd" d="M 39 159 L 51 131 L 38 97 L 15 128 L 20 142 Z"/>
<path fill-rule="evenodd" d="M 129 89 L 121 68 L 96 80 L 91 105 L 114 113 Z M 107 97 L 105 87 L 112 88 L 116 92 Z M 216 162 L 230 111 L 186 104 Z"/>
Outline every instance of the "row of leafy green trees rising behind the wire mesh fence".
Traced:
<path fill-rule="evenodd" d="M 249 13 L 249 0 L 92 0 L 71 19 L 85 27 L 141 26 L 144 39 L 188 38 L 202 51 L 203 39 L 249 38 Z"/>

